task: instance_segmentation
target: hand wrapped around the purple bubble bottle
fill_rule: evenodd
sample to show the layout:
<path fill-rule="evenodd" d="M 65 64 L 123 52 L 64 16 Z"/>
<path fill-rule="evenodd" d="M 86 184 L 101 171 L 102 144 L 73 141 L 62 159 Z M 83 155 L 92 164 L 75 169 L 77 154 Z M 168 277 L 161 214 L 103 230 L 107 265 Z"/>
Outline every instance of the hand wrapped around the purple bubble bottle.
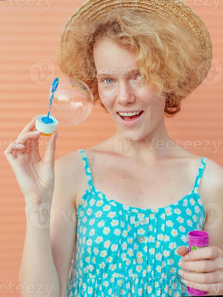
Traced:
<path fill-rule="evenodd" d="M 209 292 L 211 295 L 223 294 L 223 252 L 221 249 L 215 245 L 209 245 L 189 252 L 189 249 L 182 245 L 177 249 L 177 253 L 180 256 L 188 256 L 188 259 L 182 258 L 181 266 L 180 262 L 178 263 L 182 270 L 179 274 L 184 278 L 181 279 L 184 284 Z"/>

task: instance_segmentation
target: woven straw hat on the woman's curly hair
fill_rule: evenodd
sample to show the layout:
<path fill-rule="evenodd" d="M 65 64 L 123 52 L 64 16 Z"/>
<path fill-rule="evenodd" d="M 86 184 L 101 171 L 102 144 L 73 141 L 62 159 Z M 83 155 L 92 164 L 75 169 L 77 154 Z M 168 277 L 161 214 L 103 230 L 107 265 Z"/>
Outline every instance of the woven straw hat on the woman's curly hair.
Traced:
<path fill-rule="evenodd" d="M 97 21 L 107 15 L 113 8 L 122 7 L 163 15 L 173 18 L 192 29 L 202 47 L 207 51 L 209 70 L 212 59 L 212 43 L 207 27 L 201 18 L 181 0 L 88 0 L 83 3 L 68 19 L 61 35 L 61 44 L 66 40 L 66 30 L 73 22 L 84 18 Z"/>

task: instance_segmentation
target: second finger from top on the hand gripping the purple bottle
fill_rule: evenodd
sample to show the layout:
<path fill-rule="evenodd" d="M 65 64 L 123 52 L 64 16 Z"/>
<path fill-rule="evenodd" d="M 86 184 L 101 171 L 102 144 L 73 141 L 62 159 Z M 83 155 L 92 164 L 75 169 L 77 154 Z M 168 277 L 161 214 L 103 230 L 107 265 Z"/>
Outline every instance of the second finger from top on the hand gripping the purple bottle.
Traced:
<path fill-rule="evenodd" d="M 182 264 L 180 264 L 180 262 Z M 180 261 L 178 262 L 179 268 L 186 269 L 189 271 L 200 271 L 200 272 L 213 272 L 220 270 L 218 263 L 215 260 L 197 260 L 197 261 Z"/>

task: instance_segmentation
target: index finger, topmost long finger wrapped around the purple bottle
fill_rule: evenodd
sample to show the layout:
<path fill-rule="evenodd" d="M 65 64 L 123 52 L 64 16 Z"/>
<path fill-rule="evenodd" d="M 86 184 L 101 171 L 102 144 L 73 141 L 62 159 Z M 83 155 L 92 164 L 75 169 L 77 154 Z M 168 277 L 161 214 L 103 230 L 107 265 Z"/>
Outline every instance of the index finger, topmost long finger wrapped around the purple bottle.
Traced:
<path fill-rule="evenodd" d="M 221 249 L 215 245 L 204 246 L 201 249 L 195 249 L 185 255 L 184 261 L 194 261 L 201 259 L 215 259 L 222 254 Z"/>

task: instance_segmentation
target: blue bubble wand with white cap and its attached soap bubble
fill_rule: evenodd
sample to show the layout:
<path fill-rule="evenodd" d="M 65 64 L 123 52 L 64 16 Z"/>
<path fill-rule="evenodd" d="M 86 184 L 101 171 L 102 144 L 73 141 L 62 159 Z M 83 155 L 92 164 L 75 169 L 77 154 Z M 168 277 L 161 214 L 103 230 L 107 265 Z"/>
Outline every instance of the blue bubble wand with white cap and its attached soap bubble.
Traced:
<path fill-rule="evenodd" d="M 38 115 L 35 122 L 35 128 L 42 131 L 41 135 L 51 135 L 56 131 L 58 122 L 77 125 L 83 122 L 92 111 L 92 92 L 78 78 L 56 77 L 50 86 L 49 98 L 48 114 Z"/>

